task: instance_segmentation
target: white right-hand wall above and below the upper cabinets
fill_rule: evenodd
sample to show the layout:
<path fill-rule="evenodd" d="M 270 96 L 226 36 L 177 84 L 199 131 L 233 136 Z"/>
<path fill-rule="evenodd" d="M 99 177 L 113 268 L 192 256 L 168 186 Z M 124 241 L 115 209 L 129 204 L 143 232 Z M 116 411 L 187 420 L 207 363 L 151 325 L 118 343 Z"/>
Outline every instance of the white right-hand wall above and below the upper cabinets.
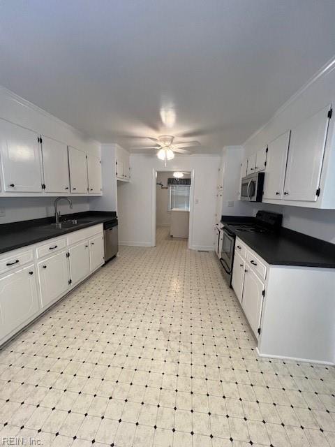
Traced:
<path fill-rule="evenodd" d="M 308 116 L 313 115 L 313 112 L 322 109 L 330 103 L 333 106 L 333 118 L 327 145 L 334 148 L 335 66 L 325 71 L 320 71 L 311 82 L 292 96 L 288 103 L 283 105 L 265 126 L 252 135 L 251 138 L 248 138 L 244 143 L 246 154 L 253 154 L 258 148 L 265 147 L 268 142 L 274 140 L 278 135 L 297 126 Z M 329 184 L 327 184 L 327 189 L 334 195 L 335 173 L 329 175 L 328 178 Z M 267 205 L 264 203 L 257 205 L 248 204 L 248 206 L 251 209 L 251 213 L 258 209 L 282 212 L 283 226 L 286 228 L 335 243 L 335 210 L 316 210 L 306 207 Z"/>

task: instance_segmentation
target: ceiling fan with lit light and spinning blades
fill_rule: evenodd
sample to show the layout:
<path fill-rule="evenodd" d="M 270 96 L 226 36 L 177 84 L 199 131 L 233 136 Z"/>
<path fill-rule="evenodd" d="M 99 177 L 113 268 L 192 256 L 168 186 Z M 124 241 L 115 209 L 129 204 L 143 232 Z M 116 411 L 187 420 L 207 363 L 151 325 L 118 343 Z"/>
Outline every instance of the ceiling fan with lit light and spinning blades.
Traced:
<path fill-rule="evenodd" d="M 147 147 L 133 147 L 133 149 L 158 150 L 158 159 L 164 161 L 164 166 L 166 166 L 166 162 L 168 160 L 172 160 L 174 158 L 174 152 L 177 154 L 192 154 L 191 151 L 185 148 L 200 146 L 200 142 L 198 141 L 183 141 L 174 143 L 174 136 L 172 135 L 161 135 L 158 138 L 148 137 L 148 139 L 154 141 L 155 145 Z"/>

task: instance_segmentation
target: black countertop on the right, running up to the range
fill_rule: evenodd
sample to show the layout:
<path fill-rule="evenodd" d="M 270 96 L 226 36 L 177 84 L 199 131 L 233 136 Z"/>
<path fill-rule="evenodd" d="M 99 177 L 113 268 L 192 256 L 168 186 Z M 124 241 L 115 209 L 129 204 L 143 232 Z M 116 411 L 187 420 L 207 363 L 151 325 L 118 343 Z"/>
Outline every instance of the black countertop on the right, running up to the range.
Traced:
<path fill-rule="evenodd" d="M 252 217 L 223 216 L 221 222 L 269 264 L 335 268 L 335 244 L 284 227 L 269 234 L 237 232 L 230 226 L 253 222 Z"/>

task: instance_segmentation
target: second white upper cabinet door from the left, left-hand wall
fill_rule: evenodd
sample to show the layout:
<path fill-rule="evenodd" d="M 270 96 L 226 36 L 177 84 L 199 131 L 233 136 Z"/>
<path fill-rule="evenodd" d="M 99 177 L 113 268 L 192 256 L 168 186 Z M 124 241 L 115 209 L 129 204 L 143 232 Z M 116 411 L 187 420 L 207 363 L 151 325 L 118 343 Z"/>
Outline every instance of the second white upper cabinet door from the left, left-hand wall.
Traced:
<path fill-rule="evenodd" d="M 42 137 L 45 192 L 69 193 L 68 147 L 63 142 Z"/>

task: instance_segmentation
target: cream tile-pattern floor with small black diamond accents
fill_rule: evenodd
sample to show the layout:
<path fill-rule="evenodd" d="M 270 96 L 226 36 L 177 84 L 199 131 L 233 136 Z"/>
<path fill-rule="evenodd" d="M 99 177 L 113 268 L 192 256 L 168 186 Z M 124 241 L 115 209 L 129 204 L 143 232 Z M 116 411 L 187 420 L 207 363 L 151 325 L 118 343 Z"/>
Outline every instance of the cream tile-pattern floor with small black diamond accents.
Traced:
<path fill-rule="evenodd" d="M 214 254 L 158 228 L 0 352 L 0 423 L 53 447 L 329 447 L 335 369 L 258 358 Z"/>

